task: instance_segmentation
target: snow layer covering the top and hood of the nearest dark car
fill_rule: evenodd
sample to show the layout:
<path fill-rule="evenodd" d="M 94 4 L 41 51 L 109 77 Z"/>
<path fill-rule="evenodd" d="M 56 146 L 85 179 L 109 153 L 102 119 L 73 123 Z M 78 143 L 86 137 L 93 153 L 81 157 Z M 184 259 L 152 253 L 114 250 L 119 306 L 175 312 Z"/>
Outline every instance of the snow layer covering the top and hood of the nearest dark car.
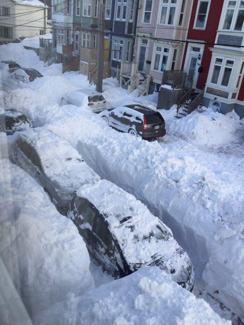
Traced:
<path fill-rule="evenodd" d="M 183 250 L 171 230 L 133 195 L 107 180 L 86 184 L 76 194 L 102 213 L 129 264 L 163 257 L 166 269 L 175 268 L 176 274 L 183 265 L 187 266 L 189 258 L 185 252 L 179 258 L 178 252 Z"/>

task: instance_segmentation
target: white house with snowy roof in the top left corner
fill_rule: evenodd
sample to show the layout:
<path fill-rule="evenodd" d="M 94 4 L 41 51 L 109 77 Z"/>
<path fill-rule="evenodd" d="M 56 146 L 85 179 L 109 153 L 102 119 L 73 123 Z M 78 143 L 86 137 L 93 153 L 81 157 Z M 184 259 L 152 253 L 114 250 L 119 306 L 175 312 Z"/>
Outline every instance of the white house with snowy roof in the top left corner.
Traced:
<path fill-rule="evenodd" d="M 1 0 L 0 41 L 44 34 L 47 8 L 39 0 Z"/>

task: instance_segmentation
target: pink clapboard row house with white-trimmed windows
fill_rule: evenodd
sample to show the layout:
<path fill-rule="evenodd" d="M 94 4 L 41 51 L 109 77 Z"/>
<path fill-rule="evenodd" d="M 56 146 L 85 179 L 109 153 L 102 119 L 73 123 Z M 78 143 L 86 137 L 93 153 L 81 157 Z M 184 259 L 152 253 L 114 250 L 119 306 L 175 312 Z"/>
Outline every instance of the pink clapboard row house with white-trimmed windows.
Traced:
<path fill-rule="evenodd" d="M 141 0 L 136 32 L 137 69 L 156 88 L 166 70 L 181 69 L 192 0 Z"/>

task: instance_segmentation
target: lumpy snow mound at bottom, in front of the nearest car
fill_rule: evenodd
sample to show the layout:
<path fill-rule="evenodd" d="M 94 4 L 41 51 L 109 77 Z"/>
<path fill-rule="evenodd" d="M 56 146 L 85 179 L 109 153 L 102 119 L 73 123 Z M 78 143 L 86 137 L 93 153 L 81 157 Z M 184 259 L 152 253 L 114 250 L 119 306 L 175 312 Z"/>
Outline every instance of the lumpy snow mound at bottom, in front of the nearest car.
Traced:
<path fill-rule="evenodd" d="M 128 290 L 129 289 L 129 290 Z M 50 307 L 34 324 L 231 325 L 203 300 L 181 288 L 156 266 Z"/>

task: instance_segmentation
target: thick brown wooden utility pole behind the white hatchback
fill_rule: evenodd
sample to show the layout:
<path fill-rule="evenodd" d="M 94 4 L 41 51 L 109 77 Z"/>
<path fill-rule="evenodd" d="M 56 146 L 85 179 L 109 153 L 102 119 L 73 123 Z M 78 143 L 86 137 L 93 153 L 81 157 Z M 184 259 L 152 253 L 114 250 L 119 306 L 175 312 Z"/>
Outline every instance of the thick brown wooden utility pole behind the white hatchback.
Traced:
<path fill-rule="evenodd" d="M 99 1 L 100 3 L 100 1 Z M 102 93 L 103 52 L 104 52 L 104 14 L 105 6 L 99 5 L 98 10 L 98 42 L 97 42 L 97 80 L 96 91 Z"/>

